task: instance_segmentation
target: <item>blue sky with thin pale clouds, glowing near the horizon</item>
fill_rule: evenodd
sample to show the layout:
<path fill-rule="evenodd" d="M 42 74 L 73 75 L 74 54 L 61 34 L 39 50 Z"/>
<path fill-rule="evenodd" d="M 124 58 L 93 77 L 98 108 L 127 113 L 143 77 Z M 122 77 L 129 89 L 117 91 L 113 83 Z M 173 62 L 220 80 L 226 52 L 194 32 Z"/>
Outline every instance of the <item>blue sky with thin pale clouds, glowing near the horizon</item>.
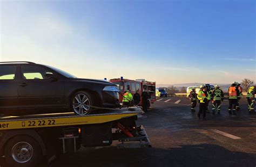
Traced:
<path fill-rule="evenodd" d="M 80 78 L 256 82 L 255 1 L 0 1 L 0 61 Z"/>

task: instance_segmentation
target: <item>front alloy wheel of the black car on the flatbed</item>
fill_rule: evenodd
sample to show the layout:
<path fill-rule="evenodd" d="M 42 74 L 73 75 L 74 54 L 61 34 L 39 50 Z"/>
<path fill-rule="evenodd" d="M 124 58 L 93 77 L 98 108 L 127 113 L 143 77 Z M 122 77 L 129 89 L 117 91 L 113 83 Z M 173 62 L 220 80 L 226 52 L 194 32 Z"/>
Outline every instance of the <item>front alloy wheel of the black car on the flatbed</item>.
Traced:
<path fill-rule="evenodd" d="M 85 99 L 84 99 L 85 98 Z M 84 99 L 84 100 L 83 100 Z M 71 109 L 76 115 L 90 114 L 94 106 L 90 93 L 78 91 L 71 98 Z"/>

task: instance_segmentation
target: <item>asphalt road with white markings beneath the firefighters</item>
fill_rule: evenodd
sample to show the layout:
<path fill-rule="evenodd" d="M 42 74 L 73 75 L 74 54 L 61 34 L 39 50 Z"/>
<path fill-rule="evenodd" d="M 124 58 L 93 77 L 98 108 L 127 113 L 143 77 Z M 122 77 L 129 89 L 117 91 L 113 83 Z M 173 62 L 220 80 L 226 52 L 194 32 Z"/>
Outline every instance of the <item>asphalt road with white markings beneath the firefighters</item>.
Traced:
<path fill-rule="evenodd" d="M 207 113 L 207 120 L 198 120 L 187 98 L 157 100 L 137 121 L 152 148 L 82 148 L 50 166 L 256 166 L 256 114 L 248 113 L 246 99 L 236 116 L 223 101 L 221 115 Z"/>

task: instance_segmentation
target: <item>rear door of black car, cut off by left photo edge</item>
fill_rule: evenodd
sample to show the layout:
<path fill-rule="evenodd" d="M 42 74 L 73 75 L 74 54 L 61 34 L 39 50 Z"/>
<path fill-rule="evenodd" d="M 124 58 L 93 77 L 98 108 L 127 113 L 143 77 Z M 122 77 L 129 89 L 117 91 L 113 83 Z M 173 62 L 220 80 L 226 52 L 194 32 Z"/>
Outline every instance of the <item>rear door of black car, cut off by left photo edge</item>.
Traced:
<path fill-rule="evenodd" d="M 0 66 L 0 111 L 16 110 L 18 105 L 17 66 Z"/>

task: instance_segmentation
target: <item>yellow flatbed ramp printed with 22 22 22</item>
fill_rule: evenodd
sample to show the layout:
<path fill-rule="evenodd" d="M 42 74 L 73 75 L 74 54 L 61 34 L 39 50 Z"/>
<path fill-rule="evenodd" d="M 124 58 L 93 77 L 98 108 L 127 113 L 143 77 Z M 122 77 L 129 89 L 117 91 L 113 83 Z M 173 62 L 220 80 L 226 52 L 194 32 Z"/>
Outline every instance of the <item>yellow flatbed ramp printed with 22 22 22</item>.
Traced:
<path fill-rule="evenodd" d="M 102 114 L 83 116 L 74 115 L 72 113 L 55 113 L 0 117 L 0 130 L 102 124 L 143 113 L 143 111 L 137 107 L 133 107 L 130 110 L 132 111 L 124 108 L 122 110 L 113 110 Z"/>

